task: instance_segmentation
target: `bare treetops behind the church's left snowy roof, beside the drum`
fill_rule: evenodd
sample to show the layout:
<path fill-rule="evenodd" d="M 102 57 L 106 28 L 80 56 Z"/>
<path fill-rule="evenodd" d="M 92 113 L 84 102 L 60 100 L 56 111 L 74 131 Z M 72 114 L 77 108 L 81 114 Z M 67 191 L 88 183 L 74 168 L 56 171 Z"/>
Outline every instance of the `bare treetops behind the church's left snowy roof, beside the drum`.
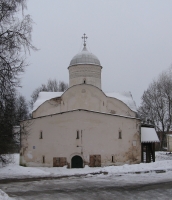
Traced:
<path fill-rule="evenodd" d="M 36 88 L 32 95 L 31 95 L 31 100 L 29 102 L 31 109 L 33 109 L 33 104 L 36 102 L 39 93 L 40 92 L 64 92 L 65 90 L 67 90 L 68 88 L 68 84 L 63 82 L 63 81 L 57 81 L 57 80 L 52 80 L 49 79 L 47 81 L 47 84 L 42 84 L 40 87 Z"/>

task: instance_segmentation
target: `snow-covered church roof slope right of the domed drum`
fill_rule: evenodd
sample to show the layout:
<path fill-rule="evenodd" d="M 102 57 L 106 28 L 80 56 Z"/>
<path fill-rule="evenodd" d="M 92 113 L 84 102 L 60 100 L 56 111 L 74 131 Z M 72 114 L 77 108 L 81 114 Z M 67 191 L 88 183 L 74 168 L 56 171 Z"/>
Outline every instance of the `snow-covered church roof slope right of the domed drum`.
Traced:
<path fill-rule="evenodd" d="M 125 103 L 132 111 L 137 112 L 136 103 L 133 100 L 131 92 L 111 92 L 105 93 L 106 96 L 116 98 Z"/>

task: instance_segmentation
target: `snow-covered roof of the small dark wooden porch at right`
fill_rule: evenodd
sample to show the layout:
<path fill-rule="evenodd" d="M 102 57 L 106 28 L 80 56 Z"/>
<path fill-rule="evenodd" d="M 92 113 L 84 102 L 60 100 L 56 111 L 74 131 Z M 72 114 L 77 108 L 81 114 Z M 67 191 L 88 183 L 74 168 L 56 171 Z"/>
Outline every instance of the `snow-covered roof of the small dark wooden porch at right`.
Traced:
<path fill-rule="evenodd" d="M 154 128 L 141 127 L 141 143 L 159 142 Z"/>

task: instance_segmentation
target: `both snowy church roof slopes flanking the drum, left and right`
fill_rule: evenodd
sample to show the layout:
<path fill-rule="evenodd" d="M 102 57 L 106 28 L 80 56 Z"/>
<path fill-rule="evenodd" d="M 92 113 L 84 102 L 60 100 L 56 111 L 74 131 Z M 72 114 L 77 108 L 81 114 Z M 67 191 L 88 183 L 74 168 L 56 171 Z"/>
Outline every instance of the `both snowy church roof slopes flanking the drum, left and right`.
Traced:
<path fill-rule="evenodd" d="M 33 111 L 35 111 L 41 104 L 43 104 L 45 101 L 50 100 L 55 97 L 60 97 L 64 92 L 40 92 L 38 99 L 33 105 Z M 132 95 L 130 92 L 111 92 L 111 93 L 105 93 L 107 97 L 116 98 L 123 103 L 125 103 L 132 111 L 137 112 L 136 104 L 132 98 Z"/>

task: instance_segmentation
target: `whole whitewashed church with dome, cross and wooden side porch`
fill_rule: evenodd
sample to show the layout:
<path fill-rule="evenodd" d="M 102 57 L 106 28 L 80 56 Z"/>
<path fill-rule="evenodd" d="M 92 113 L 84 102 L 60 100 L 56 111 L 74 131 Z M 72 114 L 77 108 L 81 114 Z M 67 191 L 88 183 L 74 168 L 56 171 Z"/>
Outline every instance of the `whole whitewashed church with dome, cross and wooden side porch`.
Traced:
<path fill-rule="evenodd" d="M 21 121 L 20 165 L 83 168 L 155 161 L 154 128 L 141 124 L 130 92 L 105 93 L 102 66 L 87 50 L 68 66 L 65 92 L 40 92 Z"/>

